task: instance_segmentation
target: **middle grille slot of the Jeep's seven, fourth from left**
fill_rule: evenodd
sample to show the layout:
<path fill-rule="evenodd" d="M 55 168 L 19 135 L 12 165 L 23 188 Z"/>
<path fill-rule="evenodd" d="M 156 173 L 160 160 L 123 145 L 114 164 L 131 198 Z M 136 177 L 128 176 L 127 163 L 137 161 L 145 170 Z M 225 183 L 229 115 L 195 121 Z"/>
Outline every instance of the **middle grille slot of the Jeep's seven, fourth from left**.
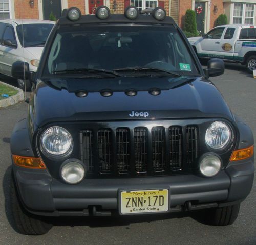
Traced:
<path fill-rule="evenodd" d="M 135 169 L 138 173 L 147 170 L 147 129 L 134 129 Z"/>

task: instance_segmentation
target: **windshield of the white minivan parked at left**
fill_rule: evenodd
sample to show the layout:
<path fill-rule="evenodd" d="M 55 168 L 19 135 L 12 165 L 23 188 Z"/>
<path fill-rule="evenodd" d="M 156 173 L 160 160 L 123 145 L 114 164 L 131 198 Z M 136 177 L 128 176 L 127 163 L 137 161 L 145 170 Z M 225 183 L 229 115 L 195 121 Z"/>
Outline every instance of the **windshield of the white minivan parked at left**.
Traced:
<path fill-rule="evenodd" d="M 20 24 L 16 27 L 16 30 L 19 42 L 23 47 L 42 47 L 45 46 L 47 37 L 52 28 L 53 24 Z"/>

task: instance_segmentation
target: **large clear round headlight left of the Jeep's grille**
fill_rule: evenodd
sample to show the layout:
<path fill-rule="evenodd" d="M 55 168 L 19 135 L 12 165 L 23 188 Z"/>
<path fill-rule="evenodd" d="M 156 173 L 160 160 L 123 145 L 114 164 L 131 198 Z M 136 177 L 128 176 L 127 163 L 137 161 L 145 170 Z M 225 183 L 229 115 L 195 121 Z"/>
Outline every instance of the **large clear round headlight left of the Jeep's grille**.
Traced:
<path fill-rule="evenodd" d="M 41 150 L 46 156 L 66 157 L 73 150 L 72 136 L 62 127 L 51 127 L 41 136 Z"/>

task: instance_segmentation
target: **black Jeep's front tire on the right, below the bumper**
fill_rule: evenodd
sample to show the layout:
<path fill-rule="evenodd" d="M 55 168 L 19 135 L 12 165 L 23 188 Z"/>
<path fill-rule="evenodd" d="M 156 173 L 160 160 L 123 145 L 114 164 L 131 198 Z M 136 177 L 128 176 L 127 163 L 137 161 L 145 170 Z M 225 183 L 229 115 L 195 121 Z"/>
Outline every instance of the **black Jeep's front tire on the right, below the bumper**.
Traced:
<path fill-rule="evenodd" d="M 215 209 L 205 210 L 205 222 L 212 226 L 228 226 L 238 217 L 240 203 Z"/>

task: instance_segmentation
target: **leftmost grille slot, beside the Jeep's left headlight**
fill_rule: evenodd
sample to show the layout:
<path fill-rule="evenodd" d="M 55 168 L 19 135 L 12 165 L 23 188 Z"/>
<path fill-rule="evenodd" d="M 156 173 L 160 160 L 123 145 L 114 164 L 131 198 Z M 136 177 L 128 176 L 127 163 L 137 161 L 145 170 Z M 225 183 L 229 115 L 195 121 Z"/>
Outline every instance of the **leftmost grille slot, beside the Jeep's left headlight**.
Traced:
<path fill-rule="evenodd" d="M 80 151 L 81 160 L 87 166 L 87 171 L 92 173 L 94 171 L 93 165 L 93 132 L 91 130 L 84 130 L 80 132 Z"/>

